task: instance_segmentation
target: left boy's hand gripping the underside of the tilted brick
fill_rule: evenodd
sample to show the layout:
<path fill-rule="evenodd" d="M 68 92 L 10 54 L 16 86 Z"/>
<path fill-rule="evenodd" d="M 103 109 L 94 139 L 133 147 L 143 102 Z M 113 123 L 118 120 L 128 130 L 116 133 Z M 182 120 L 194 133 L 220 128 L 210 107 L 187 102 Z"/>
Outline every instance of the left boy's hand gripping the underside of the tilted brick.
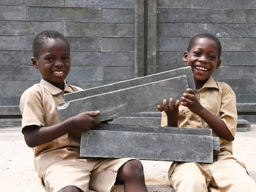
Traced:
<path fill-rule="evenodd" d="M 100 126 L 101 122 L 93 118 L 98 114 L 100 114 L 100 111 L 87 111 L 71 117 L 74 130 L 88 131 L 91 128 Z"/>

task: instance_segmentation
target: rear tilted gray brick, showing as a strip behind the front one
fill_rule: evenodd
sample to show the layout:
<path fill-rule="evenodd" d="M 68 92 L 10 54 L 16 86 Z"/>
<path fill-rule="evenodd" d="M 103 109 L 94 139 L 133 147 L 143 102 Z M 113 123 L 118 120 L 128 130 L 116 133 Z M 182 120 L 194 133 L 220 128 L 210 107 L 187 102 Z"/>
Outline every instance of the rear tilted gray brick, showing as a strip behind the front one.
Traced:
<path fill-rule="evenodd" d="M 178 77 L 181 75 L 186 75 L 189 88 L 192 88 L 195 90 L 195 82 L 194 82 L 194 77 L 192 75 L 191 68 L 190 67 L 181 67 L 179 69 L 168 70 L 168 71 L 164 71 L 161 73 L 155 73 L 152 75 L 147 75 L 145 77 L 132 78 L 130 80 L 119 81 L 117 83 L 111 83 L 108 85 L 98 86 L 98 87 L 90 88 L 88 90 L 64 94 L 64 98 L 65 98 L 65 101 L 68 102 L 68 101 L 72 101 L 72 100 L 79 99 L 79 98 L 85 98 L 88 96 L 106 93 L 109 91 L 121 90 L 121 89 L 129 88 L 132 86 L 143 85 L 145 83 L 151 83 L 153 81 L 160 81 L 160 80 L 164 80 L 167 78 Z"/>

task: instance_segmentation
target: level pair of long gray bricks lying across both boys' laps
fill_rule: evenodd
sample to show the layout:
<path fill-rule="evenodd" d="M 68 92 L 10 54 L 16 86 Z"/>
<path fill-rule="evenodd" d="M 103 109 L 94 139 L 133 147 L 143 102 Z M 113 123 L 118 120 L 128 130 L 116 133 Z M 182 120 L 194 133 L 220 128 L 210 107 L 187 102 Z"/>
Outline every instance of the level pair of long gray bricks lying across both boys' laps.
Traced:
<path fill-rule="evenodd" d="M 106 129 L 100 127 L 82 133 L 80 157 L 135 157 L 158 161 L 213 162 L 213 150 L 219 145 L 218 138 L 190 135 L 186 133 L 189 129 L 140 130 L 137 127 L 129 129 L 122 125 L 108 125 Z M 177 133 L 176 130 L 184 133 Z M 195 130 L 202 131 L 200 128 Z"/>

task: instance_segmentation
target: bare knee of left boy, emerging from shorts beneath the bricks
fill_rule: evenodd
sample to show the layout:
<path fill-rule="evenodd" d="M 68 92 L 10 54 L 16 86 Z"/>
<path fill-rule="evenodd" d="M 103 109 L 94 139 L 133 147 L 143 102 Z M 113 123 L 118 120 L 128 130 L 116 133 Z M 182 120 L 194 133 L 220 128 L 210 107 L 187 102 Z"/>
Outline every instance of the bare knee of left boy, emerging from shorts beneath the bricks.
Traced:
<path fill-rule="evenodd" d="M 130 160 L 122 165 L 117 173 L 117 182 L 124 183 L 124 190 L 126 192 L 147 191 L 143 165 L 139 160 Z"/>

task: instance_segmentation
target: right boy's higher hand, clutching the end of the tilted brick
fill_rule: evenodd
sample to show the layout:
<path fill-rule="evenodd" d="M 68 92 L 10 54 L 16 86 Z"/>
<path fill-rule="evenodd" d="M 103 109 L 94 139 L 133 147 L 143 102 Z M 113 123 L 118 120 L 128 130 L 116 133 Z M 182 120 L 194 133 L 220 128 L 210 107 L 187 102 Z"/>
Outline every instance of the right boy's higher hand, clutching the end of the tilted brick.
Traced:
<path fill-rule="evenodd" d="M 200 110 L 203 108 L 203 106 L 198 101 L 194 90 L 188 88 L 186 91 L 187 93 L 183 93 L 181 97 L 182 106 L 186 106 L 187 108 L 189 108 L 190 111 L 194 112 L 195 114 L 198 114 Z"/>

